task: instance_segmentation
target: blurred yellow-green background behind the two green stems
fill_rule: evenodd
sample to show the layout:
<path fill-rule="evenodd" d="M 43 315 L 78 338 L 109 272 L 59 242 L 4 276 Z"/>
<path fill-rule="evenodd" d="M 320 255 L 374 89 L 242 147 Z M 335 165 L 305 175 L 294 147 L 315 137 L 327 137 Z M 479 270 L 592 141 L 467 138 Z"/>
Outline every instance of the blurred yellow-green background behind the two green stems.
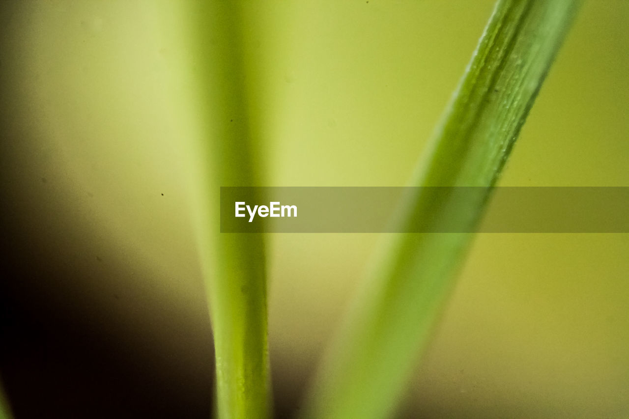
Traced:
<path fill-rule="evenodd" d="M 0 6 L 0 371 L 18 418 L 209 415 L 195 232 L 212 74 L 195 51 L 213 40 L 192 3 Z M 492 8 L 243 3 L 260 183 L 404 186 Z M 584 3 L 501 185 L 629 186 L 627 27 L 628 2 Z M 278 416 L 377 238 L 268 236 Z M 399 416 L 628 417 L 628 251 L 626 234 L 479 235 Z"/>

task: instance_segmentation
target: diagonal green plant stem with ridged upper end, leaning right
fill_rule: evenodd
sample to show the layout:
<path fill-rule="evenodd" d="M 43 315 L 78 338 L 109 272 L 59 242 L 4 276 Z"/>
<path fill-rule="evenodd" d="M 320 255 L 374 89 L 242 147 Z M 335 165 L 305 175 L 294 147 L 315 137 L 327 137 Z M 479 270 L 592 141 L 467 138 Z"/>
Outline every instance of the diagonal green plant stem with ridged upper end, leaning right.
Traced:
<path fill-rule="evenodd" d="M 422 189 L 403 223 L 451 217 L 476 225 L 559 50 L 577 0 L 502 0 L 481 37 L 411 186 L 482 186 L 477 199 Z M 412 230 L 410 230 L 412 231 Z M 472 231 L 472 230 L 468 230 Z M 306 418 L 391 415 L 426 347 L 469 233 L 393 235 L 325 357 Z"/>

